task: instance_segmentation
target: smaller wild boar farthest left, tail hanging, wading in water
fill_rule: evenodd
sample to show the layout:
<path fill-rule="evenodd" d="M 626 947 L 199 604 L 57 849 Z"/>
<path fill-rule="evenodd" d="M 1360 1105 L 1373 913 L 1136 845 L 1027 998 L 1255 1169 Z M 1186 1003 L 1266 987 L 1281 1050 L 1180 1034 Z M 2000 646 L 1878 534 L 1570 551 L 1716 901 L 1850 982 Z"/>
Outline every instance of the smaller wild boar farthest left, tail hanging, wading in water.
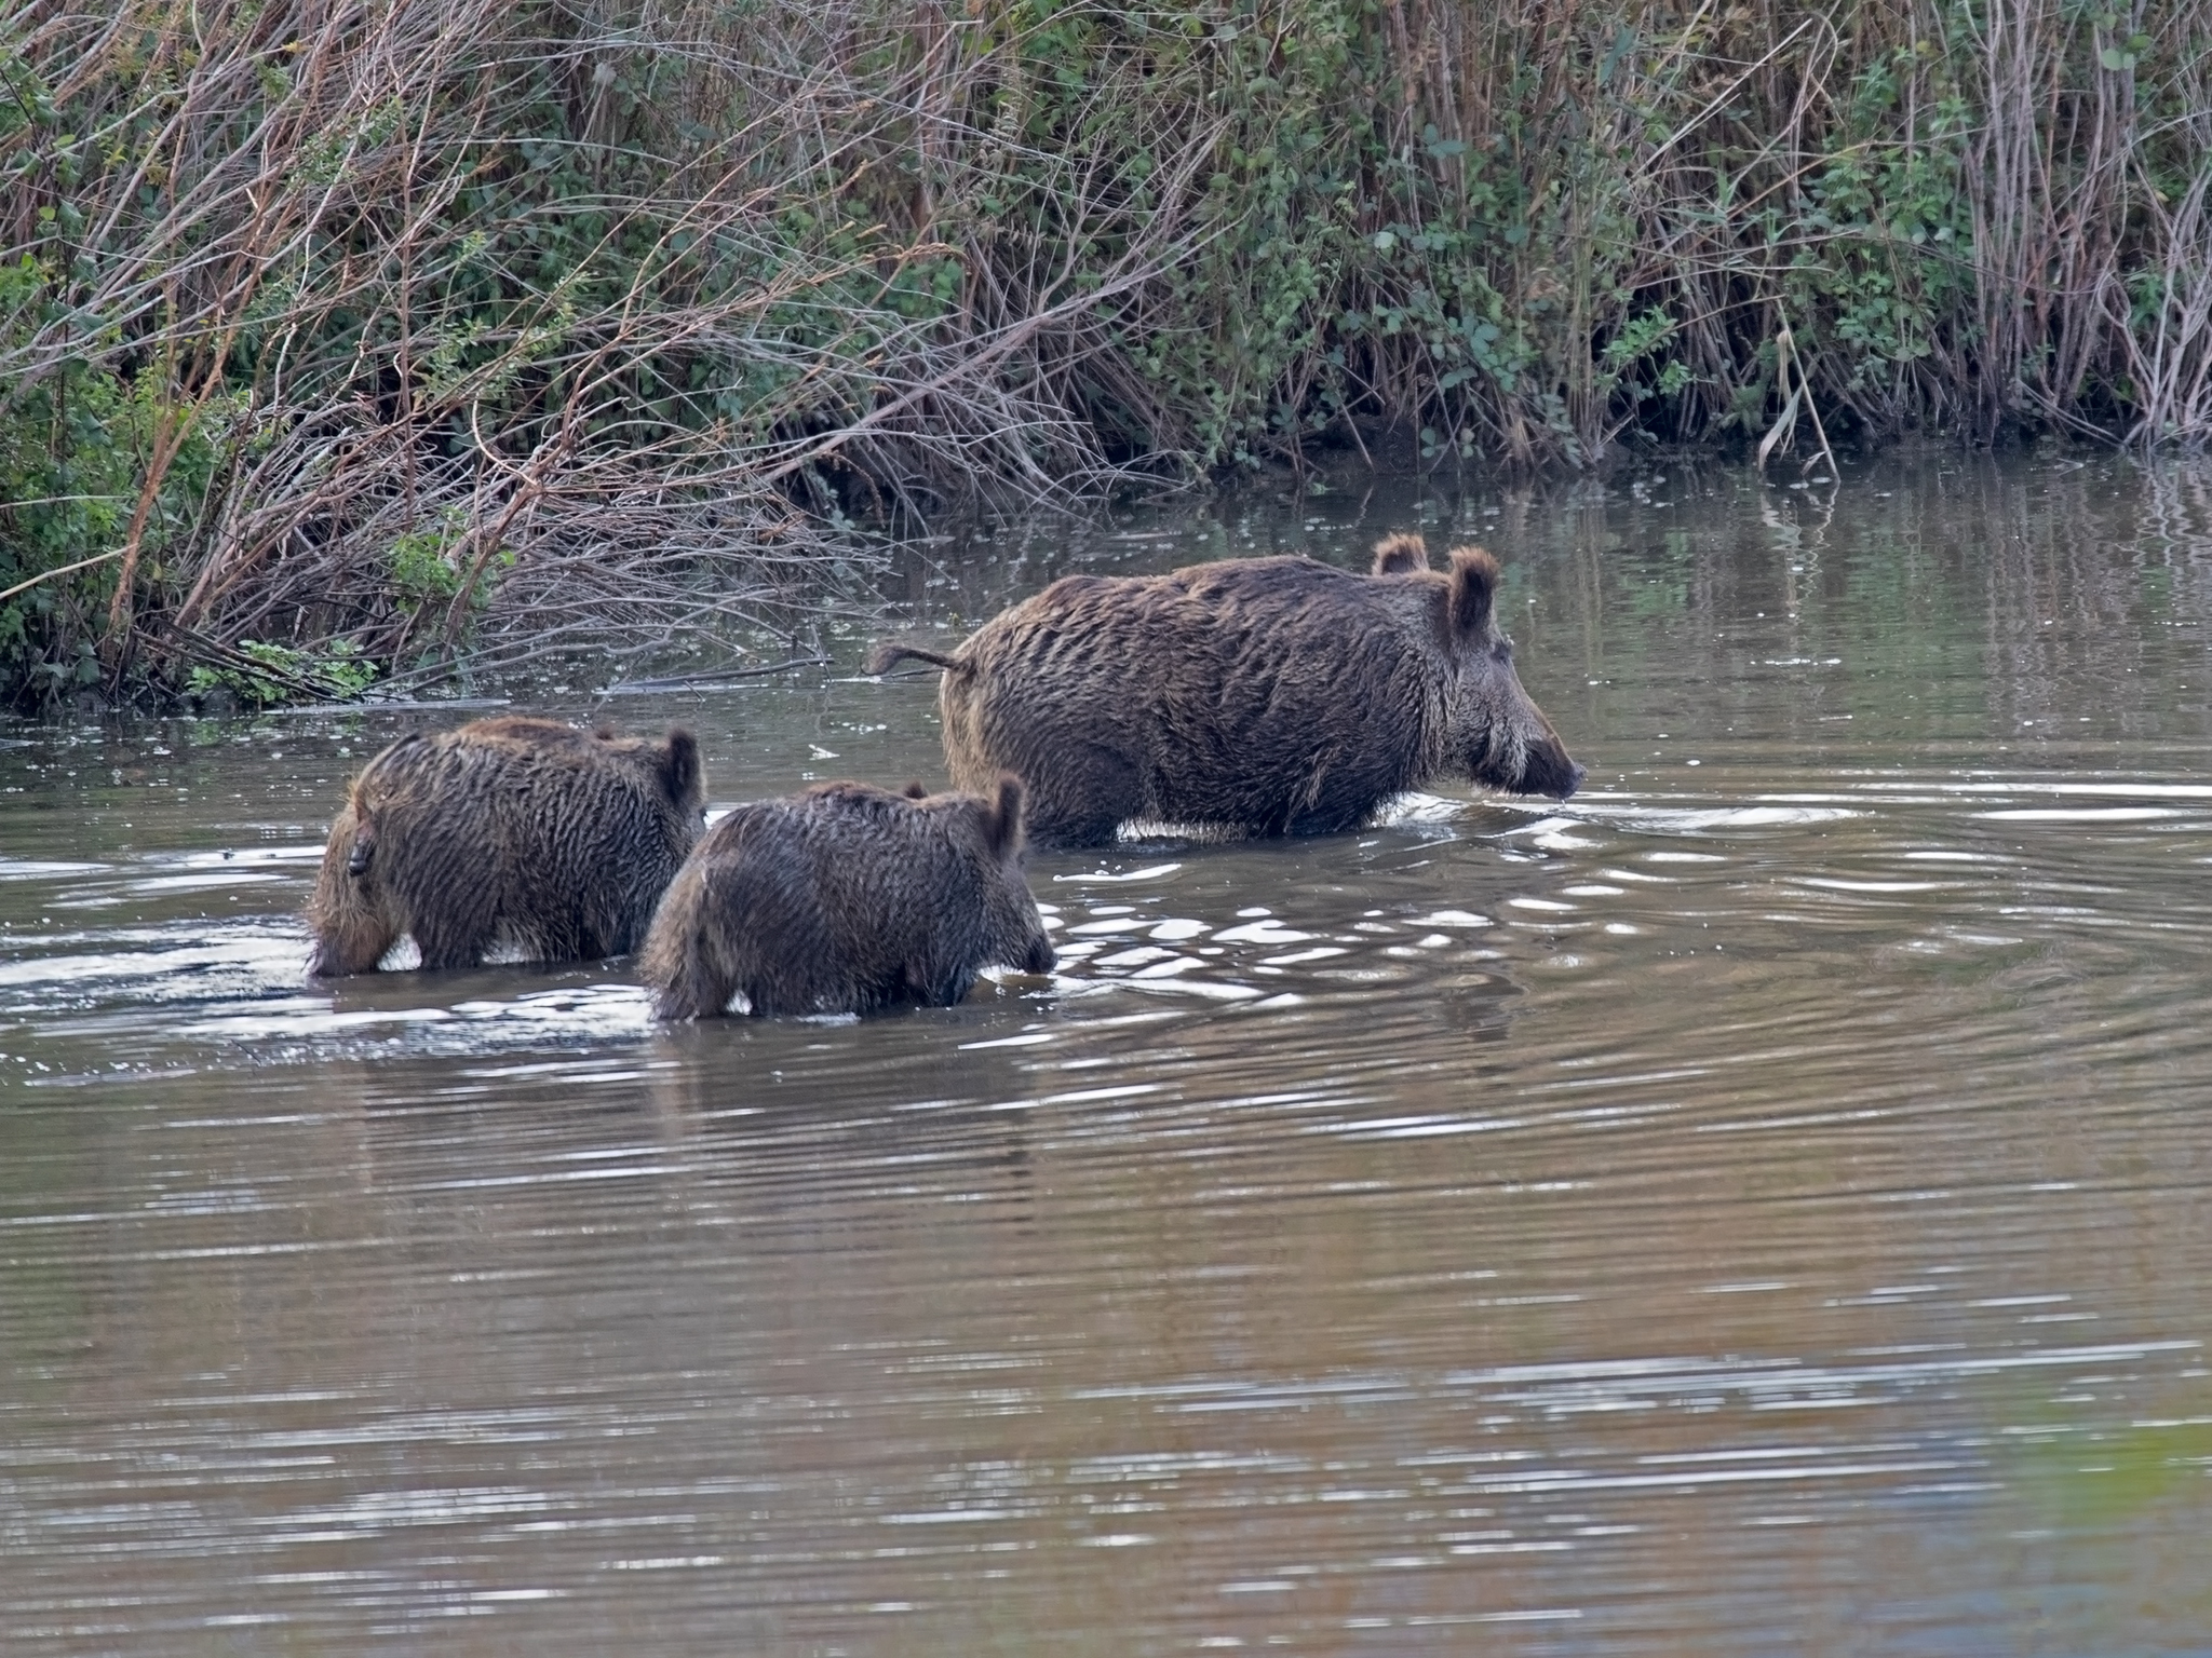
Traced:
<path fill-rule="evenodd" d="M 307 900 L 312 970 L 367 973 L 414 937 L 425 968 L 500 951 L 637 948 L 706 825 L 690 732 L 626 738 L 500 716 L 403 736 L 361 767 Z"/>

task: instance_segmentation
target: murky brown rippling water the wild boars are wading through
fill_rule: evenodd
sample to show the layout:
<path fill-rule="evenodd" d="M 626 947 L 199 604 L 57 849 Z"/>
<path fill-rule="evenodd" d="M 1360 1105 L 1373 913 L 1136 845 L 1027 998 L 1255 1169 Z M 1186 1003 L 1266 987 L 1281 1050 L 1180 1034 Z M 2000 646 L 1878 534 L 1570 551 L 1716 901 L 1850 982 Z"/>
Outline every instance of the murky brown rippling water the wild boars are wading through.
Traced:
<path fill-rule="evenodd" d="M 1584 796 L 1044 856 L 1051 993 L 869 1024 L 310 986 L 431 716 L 0 732 L 0 1645 L 2212 1649 L 2208 480 L 1398 486 L 907 595 L 1416 517 Z M 942 774 L 927 679 L 606 707 L 721 802 Z"/>

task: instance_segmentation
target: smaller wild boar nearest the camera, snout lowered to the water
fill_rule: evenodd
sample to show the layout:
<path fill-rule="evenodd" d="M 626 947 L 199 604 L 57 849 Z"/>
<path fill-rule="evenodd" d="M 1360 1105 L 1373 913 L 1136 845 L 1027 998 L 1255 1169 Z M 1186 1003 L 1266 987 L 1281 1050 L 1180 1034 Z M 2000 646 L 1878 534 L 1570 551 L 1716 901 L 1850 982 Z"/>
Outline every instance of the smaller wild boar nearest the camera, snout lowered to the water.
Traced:
<path fill-rule="evenodd" d="M 818 783 L 717 822 L 686 860 L 639 973 L 661 1019 L 951 1006 L 987 966 L 1053 968 L 1022 873 L 1022 785 L 902 794 Z"/>

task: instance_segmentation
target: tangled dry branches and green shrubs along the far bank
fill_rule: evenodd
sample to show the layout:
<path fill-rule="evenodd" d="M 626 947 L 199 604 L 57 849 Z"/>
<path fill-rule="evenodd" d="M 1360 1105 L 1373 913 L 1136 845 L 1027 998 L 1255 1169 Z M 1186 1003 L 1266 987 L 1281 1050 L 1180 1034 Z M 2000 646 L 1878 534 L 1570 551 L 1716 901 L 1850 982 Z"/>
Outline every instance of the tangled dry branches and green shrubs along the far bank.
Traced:
<path fill-rule="evenodd" d="M 29 0 L 0 701 L 745 661 L 869 513 L 1385 440 L 2201 442 L 2208 20 Z"/>

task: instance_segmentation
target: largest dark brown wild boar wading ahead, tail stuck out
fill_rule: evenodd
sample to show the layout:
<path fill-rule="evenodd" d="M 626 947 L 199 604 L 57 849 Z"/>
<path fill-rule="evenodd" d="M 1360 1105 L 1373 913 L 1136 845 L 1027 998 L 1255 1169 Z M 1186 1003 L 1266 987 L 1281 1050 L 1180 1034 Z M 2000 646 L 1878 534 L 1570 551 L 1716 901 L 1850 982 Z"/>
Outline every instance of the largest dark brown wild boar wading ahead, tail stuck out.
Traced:
<path fill-rule="evenodd" d="M 1471 778 L 1566 798 L 1584 769 L 1528 701 L 1495 619 L 1498 562 L 1418 535 L 1371 575 L 1305 557 L 1062 577 L 978 628 L 938 707 L 958 787 L 1029 785 L 1031 833 L 1113 840 L 1130 820 L 1252 836 L 1354 829 L 1396 794 Z"/>

